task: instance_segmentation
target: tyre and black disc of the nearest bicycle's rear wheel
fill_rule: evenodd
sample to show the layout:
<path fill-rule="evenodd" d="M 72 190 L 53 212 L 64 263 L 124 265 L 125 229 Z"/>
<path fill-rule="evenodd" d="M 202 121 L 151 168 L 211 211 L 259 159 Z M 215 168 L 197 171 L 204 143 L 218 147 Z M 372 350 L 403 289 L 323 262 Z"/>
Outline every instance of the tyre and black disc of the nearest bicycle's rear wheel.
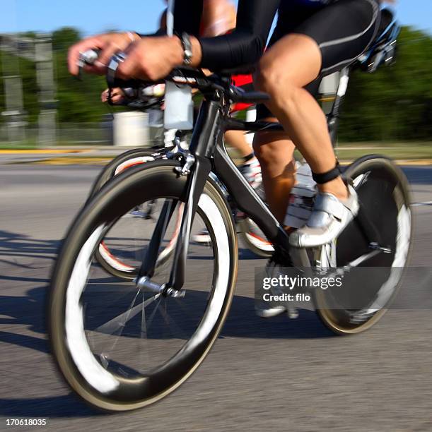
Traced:
<path fill-rule="evenodd" d="M 391 296 L 385 301 L 383 307 L 375 311 L 375 313 L 372 312 L 373 308 L 368 309 L 367 307 L 363 311 L 339 308 L 337 302 L 332 299 L 331 294 L 322 289 L 315 290 L 313 297 L 318 316 L 327 328 L 338 335 L 350 335 L 366 331 L 383 317 L 388 306 L 397 295 L 403 275 L 403 270 L 395 273 L 392 266 L 397 263 L 399 268 L 406 268 L 409 263 L 413 237 L 409 183 L 402 170 L 392 160 L 381 155 L 362 157 L 346 169 L 345 176 L 354 180 L 360 202 L 365 203 L 366 201 L 368 203 L 366 206 L 368 217 L 373 218 L 375 227 L 383 235 L 384 239 L 392 244 L 392 253 L 388 256 L 381 254 L 375 258 L 371 267 L 388 266 L 389 277 L 386 281 L 390 281 L 391 277 L 394 279 L 389 282 L 393 285 L 390 287 L 392 289 Z M 365 177 L 366 181 L 363 181 Z M 358 181 L 359 179 L 360 181 Z M 381 184 L 387 182 L 390 185 L 390 188 L 382 186 L 381 197 L 383 198 L 382 203 L 385 204 L 378 202 L 375 198 L 378 191 L 376 187 L 375 190 L 373 189 L 373 185 L 376 186 L 378 181 Z M 387 208 L 383 208 L 380 212 L 380 205 L 387 205 Z M 391 213 L 391 217 L 380 217 L 380 215 L 385 214 L 384 211 L 386 215 Z M 361 234 L 354 220 L 337 239 L 337 267 L 343 267 L 346 263 L 355 259 L 357 251 L 361 250 L 361 248 L 366 251 L 368 245 L 364 238 L 361 239 Z M 396 267 L 395 269 L 397 270 Z M 377 285 L 380 284 L 381 282 L 377 282 Z M 384 284 L 379 289 L 383 289 L 383 287 Z M 386 289 L 389 289 L 389 285 L 387 285 Z"/>

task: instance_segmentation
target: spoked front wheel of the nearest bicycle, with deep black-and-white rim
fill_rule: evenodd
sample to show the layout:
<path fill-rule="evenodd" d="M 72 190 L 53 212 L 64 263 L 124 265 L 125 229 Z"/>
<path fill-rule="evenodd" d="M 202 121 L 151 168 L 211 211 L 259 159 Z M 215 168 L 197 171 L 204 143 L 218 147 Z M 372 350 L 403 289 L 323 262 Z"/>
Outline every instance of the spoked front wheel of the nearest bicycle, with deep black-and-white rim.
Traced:
<path fill-rule="evenodd" d="M 144 407 L 175 390 L 201 364 L 226 320 L 237 275 L 232 216 L 218 188 L 207 181 L 191 234 L 207 229 L 205 247 L 190 243 L 182 296 L 145 292 L 107 275 L 95 262 L 101 241 L 121 244 L 131 260 L 144 259 L 153 222 L 131 239 L 131 209 L 152 202 L 181 205 L 185 177 L 174 162 L 136 167 L 110 181 L 78 215 L 54 268 L 49 298 L 52 353 L 67 383 L 86 402 L 110 411 Z M 160 251 L 173 236 L 166 217 Z M 168 282 L 173 256 L 152 282 Z"/>

